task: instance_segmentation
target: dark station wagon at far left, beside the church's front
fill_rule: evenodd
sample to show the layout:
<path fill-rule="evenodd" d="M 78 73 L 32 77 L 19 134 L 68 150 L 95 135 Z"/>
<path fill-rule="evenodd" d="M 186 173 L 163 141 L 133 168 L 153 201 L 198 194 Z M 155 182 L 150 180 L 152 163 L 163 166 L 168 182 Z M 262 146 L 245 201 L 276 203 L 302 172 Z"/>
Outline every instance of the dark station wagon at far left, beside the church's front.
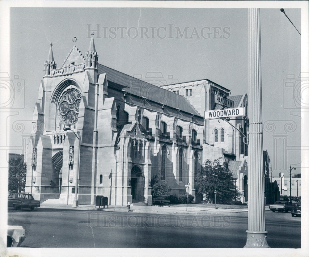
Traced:
<path fill-rule="evenodd" d="M 30 193 L 10 193 L 7 205 L 15 210 L 30 208 L 33 211 L 35 207 L 40 207 L 40 201 L 34 200 Z"/>

